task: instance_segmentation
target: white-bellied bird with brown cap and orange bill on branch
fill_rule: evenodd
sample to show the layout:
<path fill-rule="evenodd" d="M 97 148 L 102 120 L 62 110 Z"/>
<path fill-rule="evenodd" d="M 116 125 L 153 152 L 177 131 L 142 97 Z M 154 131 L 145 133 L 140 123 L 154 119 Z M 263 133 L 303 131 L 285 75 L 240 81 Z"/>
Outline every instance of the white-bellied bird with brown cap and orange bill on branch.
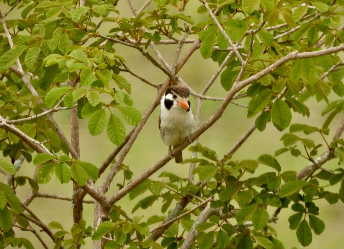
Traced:
<path fill-rule="evenodd" d="M 194 132 L 194 117 L 189 101 L 190 91 L 185 86 L 173 85 L 166 89 L 160 101 L 159 129 L 166 145 L 176 147 Z M 183 161 L 182 152 L 175 162 Z"/>

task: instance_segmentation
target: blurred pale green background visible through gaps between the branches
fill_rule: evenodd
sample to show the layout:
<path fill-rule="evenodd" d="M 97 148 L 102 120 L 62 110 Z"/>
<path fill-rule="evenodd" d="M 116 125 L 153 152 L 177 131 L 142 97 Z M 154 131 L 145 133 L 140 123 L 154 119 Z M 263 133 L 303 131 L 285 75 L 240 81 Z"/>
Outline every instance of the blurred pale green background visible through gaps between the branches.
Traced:
<path fill-rule="evenodd" d="M 139 9 L 144 0 L 135 0 L 133 1 L 136 8 Z M 198 14 L 196 12 L 197 8 L 200 6 L 200 2 L 193 0 L 187 5 L 185 11 L 186 15 L 192 15 L 192 18 L 195 19 L 195 23 L 199 21 L 206 21 L 207 15 Z M 152 2 L 148 9 L 154 9 L 156 3 Z M 172 7 L 171 7 L 172 8 Z M 7 11 L 8 7 L 5 6 L 2 2 L 0 3 L 1 11 Z M 120 16 L 130 18 L 132 13 L 128 7 L 127 1 L 121 0 L 118 2 L 117 9 L 120 11 Z M 19 12 L 13 11 L 8 15 L 7 19 L 15 19 L 19 16 Z M 99 33 L 107 34 L 107 31 L 111 29 L 111 23 L 104 23 L 99 29 Z M 195 37 L 191 37 L 195 38 Z M 185 44 L 181 56 L 190 48 L 191 44 Z M 114 48 L 116 53 L 122 55 L 126 61 L 127 66 L 135 73 L 144 77 L 145 79 L 158 84 L 166 80 L 166 75 L 164 75 L 160 70 L 157 70 L 154 66 L 144 58 L 141 53 L 135 51 L 132 48 L 115 44 Z M 166 61 L 172 65 L 174 60 L 174 53 L 176 45 L 157 45 L 157 48 L 161 51 L 162 55 Z M 148 48 L 148 51 L 154 55 L 154 53 Z M 183 69 L 179 72 L 179 75 L 182 79 L 189 84 L 196 92 L 200 93 L 203 87 L 206 85 L 208 80 L 211 78 L 213 73 L 216 72 L 218 64 L 213 62 L 211 59 L 204 60 L 200 55 L 199 51 L 196 51 L 186 63 Z M 132 85 L 132 94 L 131 97 L 134 100 L 134 106 L 143 113 L 146 111 L 147 107 L 150 105 L 152 99 L 155 97 L 157 90 L 146 83 L 139 81 L 137 78 L 133 77 L 129 73 L 121 73 Z M 114 87 L 117 87 L 114 84 Z M 226 92 L 223 90 L 220 84 L 219 78 L 214 82 L 213 86 L 207 93 L 208 96 L 217 96 L 223 97 L 226 95 Z M 338 96 L 331 95 L 329 100 L 338 99 Z M 247 101 L 240 100 L 240 103 L 247 104 Z M 206 121 L 210 116 L 213 115 L 214 111 L 218 107 L 220 102 L 214 101 L 203 101 L 202 105 L 202 117 L 201 124 Z M 308 125 L 321 127 L 325 118 L 321 116 L 321 111 L 326 106 L 324 101 L 317 102 L 308 102 L 310 108 L 310 118 L 303 117 L 297 113 L 293 113 L 292 123 L 304 123 Z M 195 100 L 191 98 L 191 106 L 193 112 L 195 113 Z M 217 152 L 219 157 L 222 157 L 223 154 L 238 141 L 238 139 L 247 131 L 251 124 L 255 121 L 255 118 L 248 119 L 246 117 L 247 110 L 244 107 L 239 107 L 236 105 L 229 105 L 223 114 L 222 118 L 216 122 L 211 128 L 209 128 L 204 134 L 200 137 L 200 143 L 203 146 L 214 149 Z M 158 116 L 159 116 L 159 107 L 154 110 L 153 114 L 147 121 L 147 124 L 142 129 L 140 135 L 138 136 L 136 142 L 133 144 L 130 153 L 124 160 L 124 164 L 130 166 L 130 170 L 134 173 L 133 179 L 138 177 L 148 168 L 153 166 L 158 160 L 164 157 L 168 151 L 168 147 L 162 142 L 160 137 L 160 132 L 158 129 Z M 58 121 L 63 131 L 65 131 L 67 137 L 70 132 L 70 122 L 69 122 L 69 112 L 59 112 L 54 114 L 54 118 Z M 331 137 L 335 132 L 336 125 L 339 124 L 341 117 L 335 118 L 330 126 L 331 132 L 330 135 L 326 137 L 327 141 L 331 141 Z M 100 166 L 111 151 L 115 149 L 115 145 L 112 144 L 106 136 L 106 133 L 103 132 L 99 136 L 92 136 L 89 134 L 87 129 L 87 120 L 79 121 L 80 127 L 80 154 L 81 160 L 90 162 L 96 166 Z M 127 126 L 127 132 L 130 131 L 132 127 Z M 274 152 L 283 147 L 282 142 L 279 141 L 280 137 L 287 133 L 288 129 L 284 132 L 278 132 L 273 125 L 268 124 L 264 132 L 255 131 L 247 141 L 239 148 L 239 150 L 234 154 L 234 160 L 243 160 L 243 159 L 257 159 L 261 154 L 270 154 L 273 155 Z M 301 135 L 301 134 L 299 134 Z M 301 135 L 302 136 L 302 135 Z M 318 143 L 322 143 L 320 134 L 311 134 L 308 138 L 314 139 Z M 319 148 L 319 154 L 325 151 L 325 147 Z M 185 149 L 183 151 L 183 157 L 189 158 L 191 152 Z M 290 154 L 282 154 L 277 157 L 279 161 L 282 172 L 286 170 L 295 170 L 299 171 L 305 166 L 307 166 L 308 161 L 302 157 L 292 157 Z M 338 167 L 335 160 L 330 161 L 325 164 L 327 169 L 335 169 Z M 264 165 L 260 165 L 257 169 L 257 174 L 262 172 L 267 172 L 270 170 Z M 18 175 L 25 175 L 32 177 L 34 171 L 34 166 L 32 163 L 24 162 Z M 98 180 L 98 184 L 101 185 L 103 179 L 106 176 L 106 173 L 109 169 L 101 176 Z M 171 160 L 166 164 L 161 170 L 155 173 L 150 178 L 152 180 L 162 180 L 158 178 L 158 175 L 162 171 L 173 172 L 174 174 L 187 178 L 189 174 L 188 165 L 176 165 L 174 160 Z M 250 175 L 247 177 L 251 177 Z M 0 180 L 4 179 L 3 175 L 0 175 Z M 107 192 L 107 196 L 114 194 L 118 187 L 117 183 L 122 183 L 123 177 L 122 173 L 119 172 L 114 181 L 111 184 L 110 190 Z M 56 177 L 52 177 L 52 180 L 45 185 L 40 186 L 41 193 L 50 193 L 55 195 L 63 195 L 66 197 L 72 196 L 72 183 L 61 185 Z M 27 186 L 26 186 L 27 187 Z M 338 191 L 339 185 L 333 187 L 334 191 Z M 18 188 L 18 197 L 23 199 L 27 194 L 28 188 Z M 331 190 L 329 190 L 331 191 Z M 147 210 L 138 209 L 134 214 L 131 214 L 133 206 L 140 200 L 134 199 L 129 201 L 128 196 L 121 199 L 116 205 L 122 207 L 123 210 L 127 212 L 129 216 L 144 216 L 143 220 L 146 220 L 153 213 L 158 214 L 160 212 L 159 205 L 154 204 L 153 207 L 149 207 Z M 86 196 L 85 199 L 91 199 L 89 196 Z M 53 199 L 44 199 L 36 198 L 30 204 L 30 209 L 32 209 L 37 216 L 45 223 L 49 224 L 50 221 L 60 222 L 66 230 L 73 225 L 72 217 L 72 208 L 69 201 L 60 201 Z M 320 216 L 319 218 L 325 222 L 326 228 L 325 231 L 320 235 L 313 234 L 313 241 L 308 248 L 321 249 L 321 248 L 333 248 L 340 249 L 344 248 L 344 211 L 343 203 L 339 201 L 337 204 L 331 205 L 325 200 L 318 200 L 316 204 L 320 207 Z M 173 207 L 173 203 L 170 208 Z M 84 219 L 87 221 L 88 225 L 93 226 L 93 204 L 84 205 Z M 269 214 L 272 214 L 274 209 L 268 209 Z M 279 220 L 277 224 L 270 224 L 277 231 L 277 238 L 281 240 L 285 248 L 303 248 L 297 241 L 296 231 L 289 229 L 288 217 L 293 214 L 293 211 L 290 209 L 282 209 Z M 235 221 L 233 221 L 235 222 Z M 16 230 L 17 236 L 25 237 L 31 240 L 35 248 L 40 248 L 41 245 L 39 241 L 34 237 L 30 232 Z M 47 238 L 44 233 L 41 233 L 45 241 L 49 241 L 51 248 L 53 243 L 50 243 L 51 239 Z M 92 241 L 87 238 L 87 246 L 85 248 L 92 248 Z"/>

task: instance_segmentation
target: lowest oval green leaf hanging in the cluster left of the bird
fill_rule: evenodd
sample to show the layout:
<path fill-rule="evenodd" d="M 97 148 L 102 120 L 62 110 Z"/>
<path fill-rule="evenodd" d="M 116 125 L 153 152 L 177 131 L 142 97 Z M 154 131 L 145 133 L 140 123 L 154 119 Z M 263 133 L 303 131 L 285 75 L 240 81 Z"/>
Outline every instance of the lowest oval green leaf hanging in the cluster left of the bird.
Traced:
<path fill-rule="evenodd" d="M 110 141 L 115 145 L 120 145 L 121 143 L 123 143 L 126 137 L 126 129 L 124 124 L 118 117 L 113 114 L 111 114 L 109 118 L 106 133 Z"/>

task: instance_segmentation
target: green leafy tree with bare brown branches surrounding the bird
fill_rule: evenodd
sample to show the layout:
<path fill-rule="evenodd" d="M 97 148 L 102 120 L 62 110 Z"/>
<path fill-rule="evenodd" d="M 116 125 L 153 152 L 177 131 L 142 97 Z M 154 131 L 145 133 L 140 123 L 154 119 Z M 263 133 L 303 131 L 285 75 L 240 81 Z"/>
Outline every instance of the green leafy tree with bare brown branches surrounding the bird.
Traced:
<path fill-rule="evenodd" d="M 311 245 L 313 234 L 320 235 L 325 229 L 319 201 L 344 202 L 343 123 L 332 138 L 325 137 L 336 117 L 343 115 L 344 1 L 200 0 L 198 13 L 193 13 L 193 3 L 187 0 L 147 1 L 142 9 L 129 0 L 133 17 L 124 16 L 118 2 L 1 3 L 6 8 L 1 6 L 0 13 L 0 148 L 4 157 L 0 170 L 5 176 L 0 182 L 0 248 L 34 248 L 30 239 L 16 235 L 22 229 L 37 236 L 31 224 L 52 239 L 54 248 L 89 248 L 87 238 L 94 248 L 283 248 L 269 223 L 284 209 L 295 212 L 288 219 L 289 228 L 296 230 L 300 244 Z M 145 9 L 148 4 L 150 10 Z M 11 19 L 11 11 L 20 15 Z M 190 16 L 185 14 L 190 12 Z M 189 42 L 193 42 L 190 50 L 179 58 L 182 46 Z M 176 44 L 173 66 L 154 44 Z M 124 57 L 116 52 L 119 49 Z M 125 57 L 131 51 L 141 53 L 168 80 L 157 85 L 137 75 L 127 66 Z M 133 87 L 140 86 L 129 82 L 125 73 L 158 90 L 178 81 L 188 84 L 178 72 L 194 52 L 219 65 L 201 95 L 192 91 L 196 108 L 204 98 L 222 104 L 198 127 L 193 141 L 222 116 L 230 102 L 246 107 L 244 112 L 253 124 L 223 157 L 204 146 L 207 141 L 194 143 L 189 148 L 194 156 L 183 162 L 190 164 L 190 176 L 162 171 L 159 180 L 149 179 L 171 159 L 165 156 L 132 179 L 133 166 L 123 160 L 131 155 L 131 145 L 163 91 L 158 91 L 142 116 L 131 95 Z M 204 97 L 217 76 L 227 95 Z M 235 102 L 239 98 L 242 103 Z M 317 124 L 321 128 L 294 122 L 298 114 L 310 117 L 309 106 L 314 101 L 308 100 L 326 104 L 321 115 L 327 117 Z M 71 143 L 52 116 L 63 111 L 71 116 Z M 200 111 L 196 112 L 197 123 Z M 82 134 L 77 120 L 83 119 L 92 136 L 106 129 L 109 141 L 118 146 L 102 165 L 80 158 Z M 254 129 L 267 127 L 281 132 L 283 147 L 275 155 L 232 157 Z M 321 142 L 314 138 L 317 135 Z M 186 143 L 174 151 L 184 149 Z M 300 172 L 286 170 L 286 163 L 278 158 L 286 152 L 307 159 L 309 165 Z M 339 168 L 324 168 L 333 158 Z M 142 165 L 144 159 L 140 159 Z M 24 160 L 36 166 L 30 177 L 21 175 Z M 122 179 L 115 180 L 119 172 Z M 36 197 L 69 198 L 56 196 L 53 189 L 49 196 L 40 193 L 40 186 L 51 184 L 53 177 L 61 184 L 73 181 L 74 225 L 70 229 L 56 221 L 61 217 L 51 217 L 49 225 L 43 224 L 27 207 Z M 118 189 L 105 195 L 112 181 Z M 19 199 L 17 190 L 25 187 L 29 194 Z M 95 203 L 94 227 L 82 219 L 86 194 Z M 147 209 L 146 216 L 132 216 L 116 204 L 126 194 L 136 203 L 131 214 Z M 157 206 L 160 213 L 155 211 Z M 270 212 L 271 208 L 276 211 Z"/>

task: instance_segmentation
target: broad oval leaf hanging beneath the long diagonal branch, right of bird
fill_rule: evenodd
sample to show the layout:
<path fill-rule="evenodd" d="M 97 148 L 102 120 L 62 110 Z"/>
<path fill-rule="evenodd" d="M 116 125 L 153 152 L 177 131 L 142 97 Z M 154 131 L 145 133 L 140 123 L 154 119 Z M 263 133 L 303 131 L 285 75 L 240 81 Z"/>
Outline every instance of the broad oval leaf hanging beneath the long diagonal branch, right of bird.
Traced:
<path fill-rule="evenodd" d="M 283 131 L 287 128 L 291 121 L 291 111 L 286 102 L 277 99 L 271 107 L 271 119 L 273 125 L 279 130 Z"/>

